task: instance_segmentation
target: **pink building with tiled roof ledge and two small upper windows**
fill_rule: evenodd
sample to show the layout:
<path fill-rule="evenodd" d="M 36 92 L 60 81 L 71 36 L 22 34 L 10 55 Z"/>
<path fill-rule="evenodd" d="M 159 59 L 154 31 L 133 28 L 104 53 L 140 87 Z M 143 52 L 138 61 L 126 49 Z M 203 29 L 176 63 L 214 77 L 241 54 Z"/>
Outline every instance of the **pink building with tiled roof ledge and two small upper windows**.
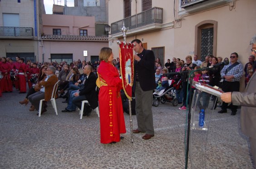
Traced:
<path fill-rule="evenodd" d="M 108 38 L 95 36 L 94 17 L 43 14 L 39 62 L 94 62 L 102 47 L 108 47 Z"/>

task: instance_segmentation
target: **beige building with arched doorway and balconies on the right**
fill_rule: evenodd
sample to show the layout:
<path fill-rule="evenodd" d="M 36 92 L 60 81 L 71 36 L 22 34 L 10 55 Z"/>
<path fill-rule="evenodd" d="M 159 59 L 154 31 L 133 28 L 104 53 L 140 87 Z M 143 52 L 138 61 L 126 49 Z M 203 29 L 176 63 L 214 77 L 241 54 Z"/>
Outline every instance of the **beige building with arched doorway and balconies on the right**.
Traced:
<path fill-rule="evenodd" d="M 123 23 L 129 28 L 127 42 L 142 40 L 143 47 L 153 50 L 163 65 L 172 57 L 184 60 L 197 55 L 204 61 L 207 55 L 224 59 L 232 52 L 245 65 L 251 55 L 255 0 L 109 0 L 108 6 L 109 47 L 116 56 L 116 41 L 123 41 Z"/>

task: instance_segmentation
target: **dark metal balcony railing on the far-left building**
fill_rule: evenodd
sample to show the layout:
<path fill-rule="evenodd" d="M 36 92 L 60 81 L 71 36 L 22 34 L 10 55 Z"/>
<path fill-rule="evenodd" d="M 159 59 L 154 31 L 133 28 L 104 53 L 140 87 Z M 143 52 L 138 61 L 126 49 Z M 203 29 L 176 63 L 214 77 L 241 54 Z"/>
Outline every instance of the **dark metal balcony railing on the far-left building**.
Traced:
<path fill-rule="evenodd" d="M 29 27 L 0 27 L 0 36 L 33 37 L 33 28 L 29 28 Z"/>

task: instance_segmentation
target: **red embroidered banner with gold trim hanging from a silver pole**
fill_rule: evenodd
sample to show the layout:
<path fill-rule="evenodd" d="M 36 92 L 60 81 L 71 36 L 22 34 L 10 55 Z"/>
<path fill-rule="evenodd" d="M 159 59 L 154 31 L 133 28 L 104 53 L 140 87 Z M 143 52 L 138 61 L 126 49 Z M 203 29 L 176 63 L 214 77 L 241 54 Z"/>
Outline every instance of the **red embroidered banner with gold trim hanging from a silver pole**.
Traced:
<path fill-rule="evenodd" d="M 123 45 L 123 42 L 119 45 L 120 52 L 120 70 L 123 81 L 123 90 L 126 97 L 132 100 L 132 87 L 133 87 L 133 44 L 128 43 Z"/>

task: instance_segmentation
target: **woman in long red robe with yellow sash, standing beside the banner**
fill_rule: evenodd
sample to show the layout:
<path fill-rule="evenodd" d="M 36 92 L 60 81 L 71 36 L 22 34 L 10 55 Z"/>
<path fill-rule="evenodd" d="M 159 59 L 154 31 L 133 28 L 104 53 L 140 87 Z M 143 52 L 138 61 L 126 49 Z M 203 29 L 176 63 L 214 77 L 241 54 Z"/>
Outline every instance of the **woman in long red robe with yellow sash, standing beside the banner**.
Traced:
<path fill-rule="evenodd" d="M 122 80 L 117 68 L 112 64 L 113 53 L 109 47 L 103 47 L 99 54 L 99 112 L 100 142 L 114 144 L 120 141 L 120 133 L 126 133 L 123 106 L 120 96 Z M 98 83 L 97 83 L 98 84 Z"/>

